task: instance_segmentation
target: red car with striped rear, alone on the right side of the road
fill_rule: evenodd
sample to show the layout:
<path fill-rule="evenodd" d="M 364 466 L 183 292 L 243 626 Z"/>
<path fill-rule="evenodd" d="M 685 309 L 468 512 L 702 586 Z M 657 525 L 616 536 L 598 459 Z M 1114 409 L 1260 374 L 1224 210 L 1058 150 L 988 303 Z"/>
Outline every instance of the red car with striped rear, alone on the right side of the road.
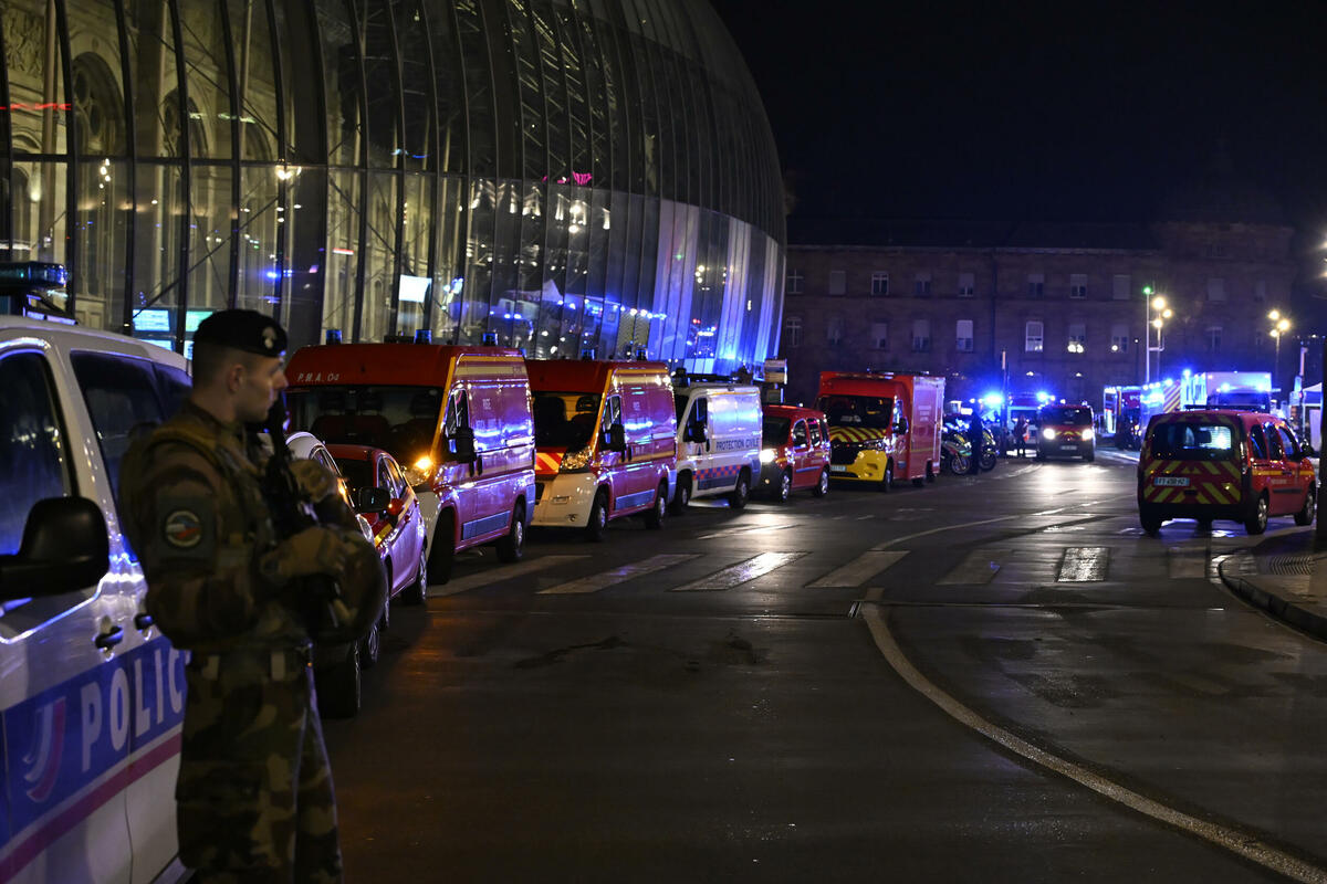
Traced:
<path fill-rule="evenodd" d="M 1250 534 L 1274 516 L 1311 525 L 1318 477 L 1294 431 L 1255 411 L 1154 415 L 1139 455 L 1139 521 L 1156 534 L 1168 518 L 1243 522 Z"/>

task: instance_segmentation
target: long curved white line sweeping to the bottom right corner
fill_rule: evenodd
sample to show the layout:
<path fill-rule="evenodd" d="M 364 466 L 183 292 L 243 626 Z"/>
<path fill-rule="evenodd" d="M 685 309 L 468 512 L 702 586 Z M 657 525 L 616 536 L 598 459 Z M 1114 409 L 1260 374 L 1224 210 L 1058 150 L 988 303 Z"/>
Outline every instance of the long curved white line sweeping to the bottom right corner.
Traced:
<path fill-rule="evenodd" d="M 1145 798 L 1136 791 L 1125 789 L 1124 786 L 1107 779 L 1105 777 L 1101 777 L 1082 765 L 1060 758 L 1059 755 L 1055 755 L 1046 749 L 1042 749 L 1040 746 L 1036 746 L 1022 737 L 1016 737 L 1009 730 L 991 724 L 986 718 L 982 718 L 978 713 L 961 704 L 953 696 L 937 688 L 926 679 L 926 676 L 912 665 L 906 655 L 904 655 L 898 644 L 894 641 L 893 634 L 889 631 L 888 619 L 880 606 L 882 592 L 884 590 L 881 588 L 872 588 L 867 594 L 867 600 L 871 604 L 863 610 L 863 616 L 867 620 L 867 627 L 871 630 L 872 639 L 876 641 L 876 647 L 904 681 L 906 681 L 920 694 L 940 706 L 946 714 L 959 724 L 971 728 L 987 740 L 1005 746 L 1005 749 L 1027 758 L 1032 763 L 1040 765 L 1047 770 L 1072 779 L 1080 786 L 1091 789 L 1099 795 L 1104 795 L 1111 801 L 1119 802 L 1120 804 L 1124 804 L 1125 807 L 1129 807 L 1131 810 L 1135 810 L 1145 816 L 1160 820 L 1166 826 L 1174 826 L 1176 828 L 1192 832 L 1193 835 L 1217 844 L 1218 847 L 1226 848 L 1231 854 L 1243 856 L 1245 859 L 1279 872 L 1286 877 L 1291 877 L 1296 881 L 1304 881 L 1306 884 L 1327 883 L 1327 868 L 1306 863 L 1295 856 L 1291 856 L 1290 854 L 1277 850 L 1266 842 L 1250 836 L 1246 832 L 1192 816 L 1184 811 L 1168 807 L 1158 801 Z"/>

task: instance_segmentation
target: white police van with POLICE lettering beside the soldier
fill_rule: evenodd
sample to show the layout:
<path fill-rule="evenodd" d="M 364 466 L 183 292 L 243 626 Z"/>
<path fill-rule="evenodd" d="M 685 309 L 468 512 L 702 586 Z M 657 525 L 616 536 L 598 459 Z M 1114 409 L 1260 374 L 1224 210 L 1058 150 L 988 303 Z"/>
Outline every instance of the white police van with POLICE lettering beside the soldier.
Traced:
<path fill-rule="evenodd" d="M 143 610 L 115 488 L 182 357 L 0 317 L 0 880 L 146 884 L 176 860 L 184 655 Z"/>

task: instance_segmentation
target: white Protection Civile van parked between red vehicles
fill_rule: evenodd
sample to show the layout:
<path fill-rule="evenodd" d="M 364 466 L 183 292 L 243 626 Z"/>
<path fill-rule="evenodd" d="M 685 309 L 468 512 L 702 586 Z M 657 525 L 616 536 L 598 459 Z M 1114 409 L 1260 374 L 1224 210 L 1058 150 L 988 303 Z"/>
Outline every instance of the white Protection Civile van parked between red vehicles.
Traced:
<path fill-rule="evenodd" d="M 677 380 L 681 380 L 678 378 Z M 677 406 L 677 481 L 673 510 L 693 497 L 726 494 L 746 506 L 760 476 L 760 388 L 726 382 L 673 384 Z"/>

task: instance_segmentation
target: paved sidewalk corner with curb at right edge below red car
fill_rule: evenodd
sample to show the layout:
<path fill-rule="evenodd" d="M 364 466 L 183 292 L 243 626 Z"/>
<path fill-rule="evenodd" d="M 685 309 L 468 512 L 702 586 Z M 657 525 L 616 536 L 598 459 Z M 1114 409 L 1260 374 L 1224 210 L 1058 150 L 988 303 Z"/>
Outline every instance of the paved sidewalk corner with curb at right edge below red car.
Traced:
<path fill-rule="evenodd" d="M 1312 529 L 1230 555 L 1218 571 L 1235 595 L 1327 641 L 1327 551 L 1314 553 Z"/>

